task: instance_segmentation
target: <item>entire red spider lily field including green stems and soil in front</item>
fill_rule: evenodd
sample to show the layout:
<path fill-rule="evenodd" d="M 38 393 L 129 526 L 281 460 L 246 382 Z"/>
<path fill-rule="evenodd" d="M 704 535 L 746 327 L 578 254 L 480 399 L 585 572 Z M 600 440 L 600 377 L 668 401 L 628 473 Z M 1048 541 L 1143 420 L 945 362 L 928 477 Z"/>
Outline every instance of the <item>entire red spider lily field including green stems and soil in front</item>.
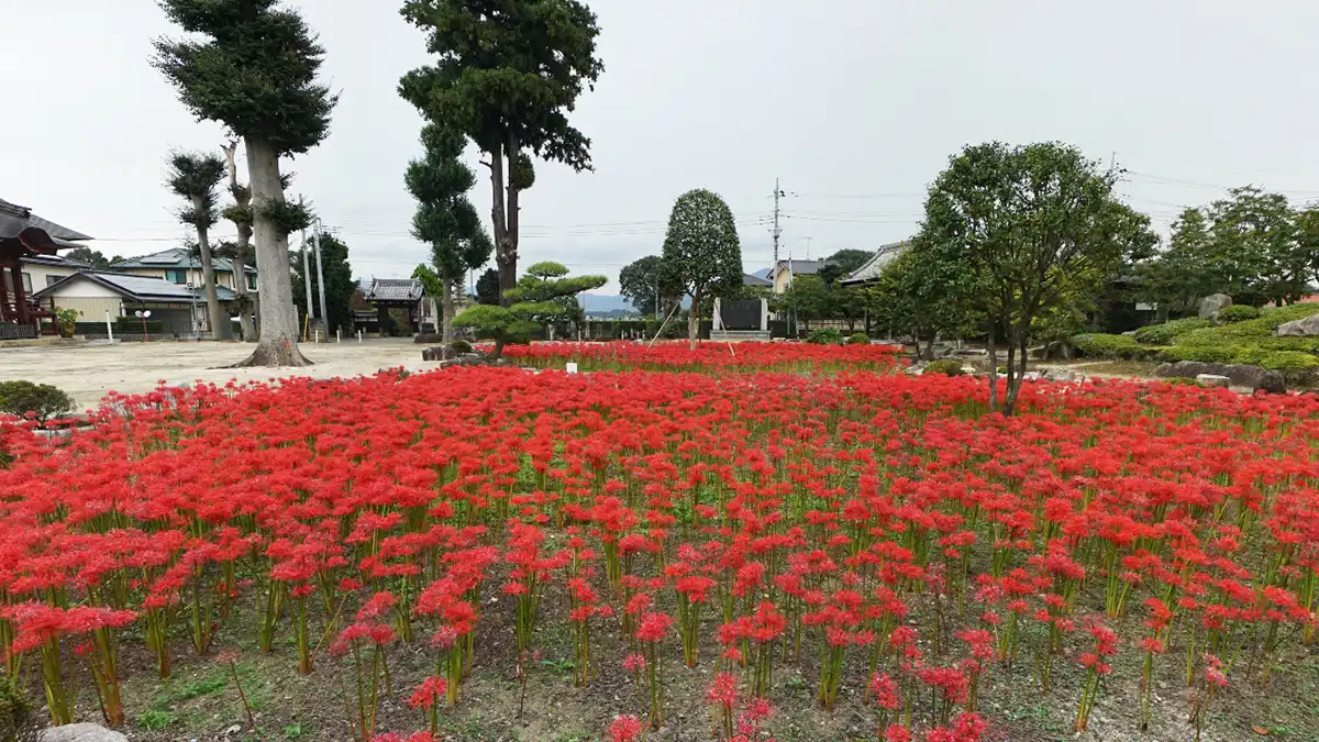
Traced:
<path fill-rule="evenodd" d="M 893 353 L 545 345 L 11 422 L 3 671 L 146 741 L 1319 739 L 1319 396 L 1002 417 Z"/>

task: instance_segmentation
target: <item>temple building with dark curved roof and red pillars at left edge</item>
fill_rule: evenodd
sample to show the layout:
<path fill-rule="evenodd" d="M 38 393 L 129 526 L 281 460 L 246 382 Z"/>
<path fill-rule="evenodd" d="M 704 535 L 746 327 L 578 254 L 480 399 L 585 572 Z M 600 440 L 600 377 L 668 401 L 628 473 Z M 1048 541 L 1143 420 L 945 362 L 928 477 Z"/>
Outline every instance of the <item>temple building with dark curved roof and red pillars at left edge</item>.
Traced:
<path fill-rule="evenodd" d="M 58 256 L 61 250 L 78 247 L 91 238 L 62 227 L 18 206 L 0 199 L 0 339 L 34 338 L 38 331 L 54 333 L 54 317 L 34 305 L 29 296 L 33 289 L 32 263 L 37 257 Z M 47 327 L 41 327 L 47 320 Z"/>

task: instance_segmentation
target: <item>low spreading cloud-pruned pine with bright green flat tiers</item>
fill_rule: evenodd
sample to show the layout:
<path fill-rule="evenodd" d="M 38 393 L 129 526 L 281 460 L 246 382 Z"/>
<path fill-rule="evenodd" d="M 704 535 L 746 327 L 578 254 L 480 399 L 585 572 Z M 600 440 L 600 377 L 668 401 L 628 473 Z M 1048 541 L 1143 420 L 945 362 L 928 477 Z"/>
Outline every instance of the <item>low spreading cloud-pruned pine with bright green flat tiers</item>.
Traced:
<path fill-rule="evenodd" d="M 517 285 L 504 292 L 513 304 L 477 304 L 454 318 L 459 327 L 472 327 L 477 337 L 495 341 L 491 358 L 500 358 L 504 346 L 525 343 L 546 323 L 575 322 L 582 318 L 576 294 L 603 287 L 604 276 L 572 276 L 558 263 L 537 263 L 526 269 Z"/>

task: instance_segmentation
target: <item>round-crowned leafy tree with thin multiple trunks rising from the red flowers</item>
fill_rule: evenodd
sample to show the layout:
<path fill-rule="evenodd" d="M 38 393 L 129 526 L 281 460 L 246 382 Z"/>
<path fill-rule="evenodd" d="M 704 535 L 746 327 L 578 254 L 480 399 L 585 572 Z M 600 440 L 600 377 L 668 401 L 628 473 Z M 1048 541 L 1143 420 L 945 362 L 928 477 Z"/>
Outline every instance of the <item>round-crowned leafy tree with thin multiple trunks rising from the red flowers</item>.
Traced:
<path fill-rule="evenodd" d="M 991 409 L 1016 408 L 1039 318 L 1092 302 L 1126 260 L 1157 243 L 1149 217 L 1113 193 L 1116 181 L 1117 172 L 1074 147 L 988 143 L 955 156 L 930 187 L 923 234 L 959 257 L 975 281 L 967 298 L 1022 363 L 1009 368 L 1001 407 L 991 386 Z"/>

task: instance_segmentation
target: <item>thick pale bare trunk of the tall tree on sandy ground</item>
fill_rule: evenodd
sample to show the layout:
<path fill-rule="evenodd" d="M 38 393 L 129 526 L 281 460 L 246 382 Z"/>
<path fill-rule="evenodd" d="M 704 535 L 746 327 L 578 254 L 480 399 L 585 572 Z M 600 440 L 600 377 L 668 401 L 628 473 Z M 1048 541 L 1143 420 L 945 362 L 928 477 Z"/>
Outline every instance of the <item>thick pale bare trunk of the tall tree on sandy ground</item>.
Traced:
<path fill-rule="evenodd" d="M 298 350 L 298 310 L 289 279 L 289 235 L 265 217 L 269 203 L 284 203 L 280 156 L 268 143 L 247 137 L 248 180 L 252 185 L 256 267 L 261 281 L 261 341 L 237 366 L 307 366 Z"/>

